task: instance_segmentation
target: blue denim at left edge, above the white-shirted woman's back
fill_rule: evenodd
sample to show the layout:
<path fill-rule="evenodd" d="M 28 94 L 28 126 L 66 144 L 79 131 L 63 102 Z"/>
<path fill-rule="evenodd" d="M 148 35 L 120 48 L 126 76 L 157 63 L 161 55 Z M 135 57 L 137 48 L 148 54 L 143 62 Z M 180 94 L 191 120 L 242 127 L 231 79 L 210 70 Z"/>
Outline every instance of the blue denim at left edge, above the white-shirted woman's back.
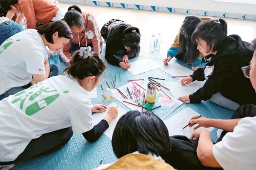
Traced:
<path fill-rule="evenodd" d="M 0 24 L 0 45 L 13 35 L 23 31 L 22 26 L 12 20 Z"/>

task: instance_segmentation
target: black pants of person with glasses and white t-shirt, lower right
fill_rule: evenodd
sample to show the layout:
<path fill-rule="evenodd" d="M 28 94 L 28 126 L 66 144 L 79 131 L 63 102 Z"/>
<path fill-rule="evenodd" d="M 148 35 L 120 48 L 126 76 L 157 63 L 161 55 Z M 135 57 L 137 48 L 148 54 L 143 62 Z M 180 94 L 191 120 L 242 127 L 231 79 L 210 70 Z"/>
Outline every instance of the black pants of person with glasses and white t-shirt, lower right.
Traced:
<path fill-rule="evenodd" d="M 236 109 L 231 119 L 256 116 L 255 105 L 242 105 Z M 221 133 L 220 142 L 227 131 Z M 186 136 L 171 136 L 172 150 L 165 161 L 177 170 L 222 170 L 222 168 L 205 167 L 197 156 L 198 140 L 188 139 Z"/>

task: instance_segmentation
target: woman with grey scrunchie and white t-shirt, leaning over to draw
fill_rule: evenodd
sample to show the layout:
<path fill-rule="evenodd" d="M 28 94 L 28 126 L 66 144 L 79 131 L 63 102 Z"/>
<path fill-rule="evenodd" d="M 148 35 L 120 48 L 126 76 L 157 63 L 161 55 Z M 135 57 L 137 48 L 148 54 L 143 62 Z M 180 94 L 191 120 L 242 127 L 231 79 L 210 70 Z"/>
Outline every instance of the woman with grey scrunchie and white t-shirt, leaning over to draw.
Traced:
<path fill-rule="evenodd" d="M 10 167 L 55 150 L 66 144 L 73 132 L 95 142 L 108 128 L 118 115 L 118 106 L 109 108 L 93 127 L 92 112 L 107 107 L 92 105 L 89 92 L 104 81 L 107 65 L 98 54 L 89 55 L 90 50 L 81 48 L 74 54 L 72 65 L 64 70 L 66 76 L 51 77 L 0 101 L 0 166 Z"/>

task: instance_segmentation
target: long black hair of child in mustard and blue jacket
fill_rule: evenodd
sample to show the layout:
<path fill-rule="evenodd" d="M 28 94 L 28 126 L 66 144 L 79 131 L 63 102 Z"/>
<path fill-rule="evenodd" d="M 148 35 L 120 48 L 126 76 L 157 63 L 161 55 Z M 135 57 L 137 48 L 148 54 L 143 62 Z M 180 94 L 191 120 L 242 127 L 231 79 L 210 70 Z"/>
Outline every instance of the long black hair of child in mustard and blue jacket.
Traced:
<path fill-rule="evenodd" d="M 198 58 L 199 50 L 197 49 L 197 46 L 192 43 L 191 36 L 198 23 L 201 23 L 201 21 L 200 17 L 196 15 L 189 15 L 185 17 L 181 25 L 179 52 L 177 55 L 185 55 L 184 61 L 186 64 L 191 64 Z"/>

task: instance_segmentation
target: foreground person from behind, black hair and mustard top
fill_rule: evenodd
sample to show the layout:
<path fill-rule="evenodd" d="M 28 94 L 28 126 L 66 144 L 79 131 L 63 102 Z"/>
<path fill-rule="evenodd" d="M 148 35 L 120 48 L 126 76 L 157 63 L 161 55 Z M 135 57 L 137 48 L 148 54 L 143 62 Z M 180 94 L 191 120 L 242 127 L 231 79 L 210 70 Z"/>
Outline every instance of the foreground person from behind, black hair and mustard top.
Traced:
<path fill-rule="evenodd" d="M 114 129 L 112 146 L 118 161 L 93 170 L 175 170 L 163 161 L 171 150 L 167 127 L 151 112 L 123 115 Z"/>

